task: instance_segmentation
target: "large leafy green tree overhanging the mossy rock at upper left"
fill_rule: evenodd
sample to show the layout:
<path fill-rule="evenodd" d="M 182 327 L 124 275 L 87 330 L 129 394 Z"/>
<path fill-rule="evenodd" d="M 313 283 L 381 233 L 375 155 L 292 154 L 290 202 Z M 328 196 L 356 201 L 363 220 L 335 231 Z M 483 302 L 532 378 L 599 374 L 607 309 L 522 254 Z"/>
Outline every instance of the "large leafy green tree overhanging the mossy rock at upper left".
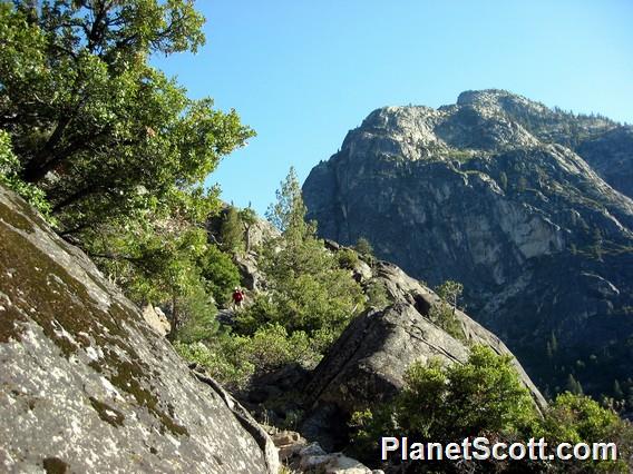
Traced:
<path fill-rule="evenodd" d="M 252 136 L 148 65 L 204 41 L 192 3 L 16 3 L 0 6 L 0 124 L 64 231 L 168 207 Z"/>

